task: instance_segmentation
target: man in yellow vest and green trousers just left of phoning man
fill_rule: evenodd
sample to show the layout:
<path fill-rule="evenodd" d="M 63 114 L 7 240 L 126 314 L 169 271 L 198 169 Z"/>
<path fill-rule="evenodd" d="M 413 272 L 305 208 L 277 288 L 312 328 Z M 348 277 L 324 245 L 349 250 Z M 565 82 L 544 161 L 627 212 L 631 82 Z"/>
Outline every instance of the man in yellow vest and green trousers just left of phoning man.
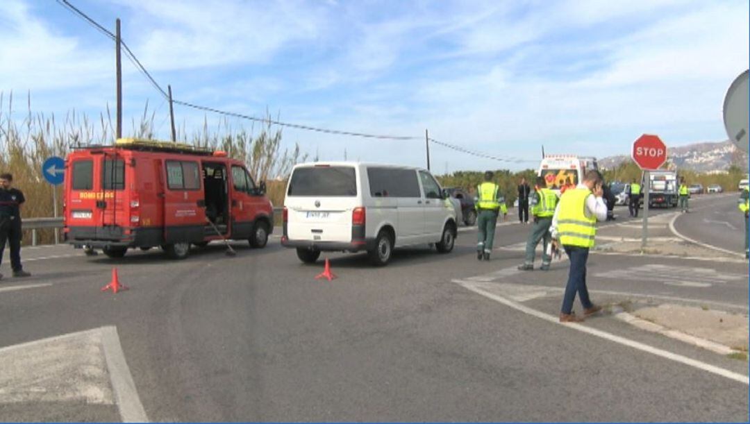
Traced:
<path fill-rule="evenodd" d="M 531 196 L 531 214 L 534 218 L 534 226 L 529 232 L 529 239 L 526 240 L 526 258 L 523 265 L 518 265 L 522 271 L 534 269 L 534 257 L 536 256 L 536 246 L 540 240 L 543 240 L 541 253 L 541 270 L 550 269 L 552 256 L 547 254 L 547 244 L 552 241 L 550 234 L 550 225 L 552 225 L 552 216 L 555 214 L 557 206 L 557 195 L 547 188 L 544 177 L 536 178 L 534 193 Z"/>

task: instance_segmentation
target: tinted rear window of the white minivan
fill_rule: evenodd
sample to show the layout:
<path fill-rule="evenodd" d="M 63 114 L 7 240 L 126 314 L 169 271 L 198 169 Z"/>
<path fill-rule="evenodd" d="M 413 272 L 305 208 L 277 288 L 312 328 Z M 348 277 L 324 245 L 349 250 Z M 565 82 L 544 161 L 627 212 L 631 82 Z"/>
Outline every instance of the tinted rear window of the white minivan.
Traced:
<path fill-rule="evenodd" d="M 354 168 L 350 166 L 314 166 L 295 169 L 287 196 L 357 196 Z"/>

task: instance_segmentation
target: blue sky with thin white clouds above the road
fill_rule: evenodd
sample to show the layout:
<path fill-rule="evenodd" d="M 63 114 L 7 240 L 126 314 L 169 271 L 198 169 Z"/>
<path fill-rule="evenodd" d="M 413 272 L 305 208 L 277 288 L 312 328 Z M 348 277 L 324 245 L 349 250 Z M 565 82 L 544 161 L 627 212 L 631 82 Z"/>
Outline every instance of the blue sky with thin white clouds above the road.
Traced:
<path fill-rule="evenodd" d="M 71 3 L 112 30 L 119 17 L 124 40 L 177 99 L 340 130 L 421 137 L 429 129 L 531 161 L 542 144 L 549 153 L 627 154 L 641 133 L 674 146 L 724 140 L 724 94 L 750 61 L 744 0 Z M 98 117 L 114 105 L 113 43 L 55 1 L 3 0 L 0 28 L 0 91 L 31 91 L 34 112 L 47 114 Z M 168 107 L 125 61 L 126 123 L 146 100 L 167 139 Z M 175 114 L 187 133 L 205 117 Z M 324 160 L 346 149 L 350 159 L 425 165 L 424 140 L 293 129 L 284 140 Z M 439 173 L 537 166 L 437 145 L 431 153 Z"/>

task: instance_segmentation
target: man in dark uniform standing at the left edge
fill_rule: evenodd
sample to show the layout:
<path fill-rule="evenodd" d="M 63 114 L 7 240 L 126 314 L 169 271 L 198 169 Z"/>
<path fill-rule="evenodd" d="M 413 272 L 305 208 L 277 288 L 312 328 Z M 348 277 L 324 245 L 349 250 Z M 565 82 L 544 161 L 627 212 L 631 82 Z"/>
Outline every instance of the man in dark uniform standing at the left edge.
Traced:
<path fill-rule="evenodd" d="M 21 190 L 14 189 L 13 175 L 0 175 L 0 264 L 5 243 L 10 244 L 10 267 L 13 276 L 30 276 L 21 265 L 21 208 L 26 199 Z M 2 274 L 0 274 L 0 279 Z"/>

